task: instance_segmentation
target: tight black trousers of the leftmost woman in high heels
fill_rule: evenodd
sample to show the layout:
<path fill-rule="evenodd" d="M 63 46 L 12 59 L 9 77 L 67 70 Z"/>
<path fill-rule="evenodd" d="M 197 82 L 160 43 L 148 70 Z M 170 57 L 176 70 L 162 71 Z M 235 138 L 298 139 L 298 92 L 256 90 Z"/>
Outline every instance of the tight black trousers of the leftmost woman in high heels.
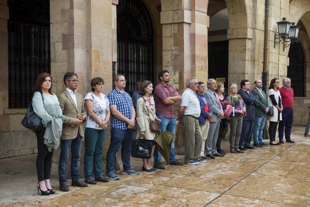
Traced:
<path fill-rule="evenodd" d="M 52 167 L 52 157 L 54 154 L 54 149 L 51 152 L 47 150 L 44 144 L 44 134 L 45 128 L 40 131 L 36 131 L 37 135 L 37 146 L 38 146 L 38 156 L 36 161 L 38 181 L 43 181 L 44 179 L 50 179 L 51 167 Z"/>

